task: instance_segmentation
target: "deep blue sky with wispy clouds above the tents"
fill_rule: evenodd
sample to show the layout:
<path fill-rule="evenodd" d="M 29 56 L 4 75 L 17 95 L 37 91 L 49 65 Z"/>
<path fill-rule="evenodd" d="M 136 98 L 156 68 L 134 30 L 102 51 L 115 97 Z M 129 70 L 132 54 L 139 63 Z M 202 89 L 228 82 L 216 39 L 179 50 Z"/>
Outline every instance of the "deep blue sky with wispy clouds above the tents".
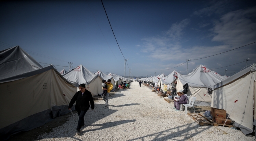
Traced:
<path fill-rule="evenodd" d="M 129 68 L 134 76 L 186 74 L 190 58 L 188 72 L 202 64 L 231 76 L 246 66 L 245 59 L 256 61 L 251 0 L 102 1 L 122 53 L 100 0 L 1 2 L 0 50 L 19 45 L 42 66 L 60 65 L 58 71 L 73 62 L 118 75 L 124 75 L 125 57 L 126 76 Z"/>

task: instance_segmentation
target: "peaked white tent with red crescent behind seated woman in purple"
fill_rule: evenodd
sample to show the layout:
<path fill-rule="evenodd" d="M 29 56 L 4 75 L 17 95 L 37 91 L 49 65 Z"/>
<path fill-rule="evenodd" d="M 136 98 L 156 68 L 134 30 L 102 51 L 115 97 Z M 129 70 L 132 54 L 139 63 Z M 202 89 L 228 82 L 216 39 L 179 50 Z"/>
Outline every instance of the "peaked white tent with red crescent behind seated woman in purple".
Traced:
<path fill-rule="evenodd" d="M 188 83 L 189 91 L 187 95 L 197 98 L 196 105 L 204 106 L 211 105 L 211 94 L 209 94 L 209 90 L 213 89 L 216 83 L 224 80 L 222 76 L 214 74 L 203 65 L 199 65 L 193 72 L 187 75 L 177 74 L 177 76 L 177 92 L 184 90 L 183 85 Z"/>

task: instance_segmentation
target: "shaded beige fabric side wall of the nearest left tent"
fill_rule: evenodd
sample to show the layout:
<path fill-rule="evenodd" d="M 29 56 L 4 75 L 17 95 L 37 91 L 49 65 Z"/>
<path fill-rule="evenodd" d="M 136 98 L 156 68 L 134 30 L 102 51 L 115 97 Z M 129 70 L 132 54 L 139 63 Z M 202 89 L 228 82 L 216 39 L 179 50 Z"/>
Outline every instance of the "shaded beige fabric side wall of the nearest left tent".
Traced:
<path fill-rule="evenodd" d="M 0 83 L 0 129 L 28 116 L 67 105 L 76 93 L 76 87 L 62 80 L 57 71 L 49 71 L 24 79 Z"/>

